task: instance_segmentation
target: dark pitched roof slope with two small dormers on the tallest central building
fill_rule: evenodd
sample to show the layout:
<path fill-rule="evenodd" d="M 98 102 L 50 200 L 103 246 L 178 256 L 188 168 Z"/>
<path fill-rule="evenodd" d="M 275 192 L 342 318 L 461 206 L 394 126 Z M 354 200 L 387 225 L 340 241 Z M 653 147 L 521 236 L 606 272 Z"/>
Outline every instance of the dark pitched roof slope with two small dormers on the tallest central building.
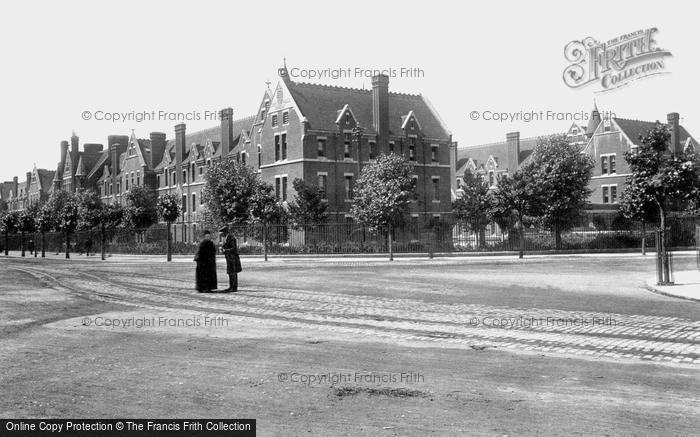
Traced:
<path fill-rule="evenodd" d="M 365 132 L 374 132 L 372 127 L 372 90 L 291 81 L 286 82 L 286 85 L 312 129 L 337 130 L 338 126 L 335 121 L 338 110 L 343 109 L 347 104 Z M 448 138 L 450 136 L 423 96 L 392 92 L 389 93 L 389 131 L 391 134 L 401 134 L 402 117 L 411 111 L 420 122 L 425 136 L 430 138 Z"/>

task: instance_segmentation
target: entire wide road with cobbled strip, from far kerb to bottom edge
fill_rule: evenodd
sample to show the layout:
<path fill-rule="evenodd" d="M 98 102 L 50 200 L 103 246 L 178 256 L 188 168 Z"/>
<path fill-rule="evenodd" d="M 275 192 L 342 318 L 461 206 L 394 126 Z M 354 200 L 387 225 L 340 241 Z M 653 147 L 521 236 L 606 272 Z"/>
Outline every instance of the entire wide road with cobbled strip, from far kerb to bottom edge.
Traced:
<path fill-rule="evenodd" d="M 183 261 L 1 259 L 3 416 L 250 417 L 261 435 L 700 427 L 700 306 L 643 288 L 653 259 L 248 261 L 239 293 L 199 294 Z"/>

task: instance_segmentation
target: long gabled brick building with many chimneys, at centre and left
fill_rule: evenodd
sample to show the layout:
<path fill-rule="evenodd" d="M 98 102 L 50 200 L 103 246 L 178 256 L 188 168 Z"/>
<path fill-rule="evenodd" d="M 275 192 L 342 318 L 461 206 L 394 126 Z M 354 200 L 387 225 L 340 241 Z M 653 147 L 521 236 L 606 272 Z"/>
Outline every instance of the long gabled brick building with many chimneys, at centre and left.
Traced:
<path fill-rule="evenodd" d="M 219 126 L 210 129 L 189 133 L 178 124 L 169 140 L 160 132 L 148 139 L 133 132 L 111 135 L 106 148 L 85 144 L 82 151 L 74 133 L 70 143 L 60 144 L 50 188 L 95 189 L 107 203 L 122 202 L 136 186 L 177 193 L 183 221 L 195 223 L 203 218 L 207 167 L 234 157 L 271 183 L 281 203 L 292 201 L 295 178 L 318 185 L 332 220 L 344 222 L 352 219 L 353 187 L 362 167 L 394 152 L 415 166 L 411 215 L 432 218 L 451 211 L 456 143 L 425 97 L 390 92 L 389 78 L 382 75 L 372 78 L 368 90 L 297 83 L 286 66 L 279 76 L 251 115 L 234 119 L 233 110 L 224 109 Z M 182 229 L 181 236 L 190 232 Z"/>

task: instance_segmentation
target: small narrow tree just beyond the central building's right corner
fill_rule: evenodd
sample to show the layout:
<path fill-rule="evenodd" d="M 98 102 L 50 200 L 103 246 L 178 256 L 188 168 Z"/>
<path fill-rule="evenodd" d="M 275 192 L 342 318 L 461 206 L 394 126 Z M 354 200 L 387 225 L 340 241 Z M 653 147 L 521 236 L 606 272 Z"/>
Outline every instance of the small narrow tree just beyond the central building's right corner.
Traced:
<path fill-rule="evenodd" d="M 457 219 L 476 234 L 477 246 L 481 246 L 485 244 L 484 230 L 491 222 L 489 185 L 480 174 L 473 174 L 469 169 L 464 172 L 463 181 L 460 187 L 463 194 L 452 202 L 452 210 Z"/>

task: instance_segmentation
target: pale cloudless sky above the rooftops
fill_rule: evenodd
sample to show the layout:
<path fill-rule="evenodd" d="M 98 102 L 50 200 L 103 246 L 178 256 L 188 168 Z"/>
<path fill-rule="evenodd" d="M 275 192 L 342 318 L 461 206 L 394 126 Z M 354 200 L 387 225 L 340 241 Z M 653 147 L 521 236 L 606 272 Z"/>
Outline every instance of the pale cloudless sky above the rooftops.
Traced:
<path fill-rule="evenodd" d="M 665 120 L 700 137 L 697 104 L 700 34 L 691 7 L 675 1 L 506 2 L 416 1 L 23 1 L 0 6 L 0 180 L 38 168 L 53 170 L 59 144 L 75 131 L 83 143 L 107 135 L 174 136 L 218 125 L 225 107 L 252 114 L 266 81 L 292 71 L 351 69 L 338 79 L 301 82 L 371 88 L 355 69 L 394 69 L 390 90 L 426 96 L 460 146 L 565 131 L 571 121 L 484 120 L 491 113 L 601 111 Z M 684 12 L 685 11 L 685 12 Z M 667 74 L 598 92 L 569 88 L 564 47 L 593 37 L 607 41 L 658 28 L 657 46 L 671 52 Z M 401 68 L 420 69 L 400 77 Z M 339 108 L 340 109 L 340 108 Z M 89 117 L 86 116 L 89 112 Z M 137 120 L 148 113 L 155 120 Z M 479 119 L 472 120 L 473 111 Z M 107 114 L 132 114 L 106 120 Z M 85 119 L 89 118 L 89 119 Z M 98 119 L 99 118 L 99 119 Z M 207 119 L 208 118 L 208 119 Z M 584 122 L 585 124 L 585 122 Z"/>

